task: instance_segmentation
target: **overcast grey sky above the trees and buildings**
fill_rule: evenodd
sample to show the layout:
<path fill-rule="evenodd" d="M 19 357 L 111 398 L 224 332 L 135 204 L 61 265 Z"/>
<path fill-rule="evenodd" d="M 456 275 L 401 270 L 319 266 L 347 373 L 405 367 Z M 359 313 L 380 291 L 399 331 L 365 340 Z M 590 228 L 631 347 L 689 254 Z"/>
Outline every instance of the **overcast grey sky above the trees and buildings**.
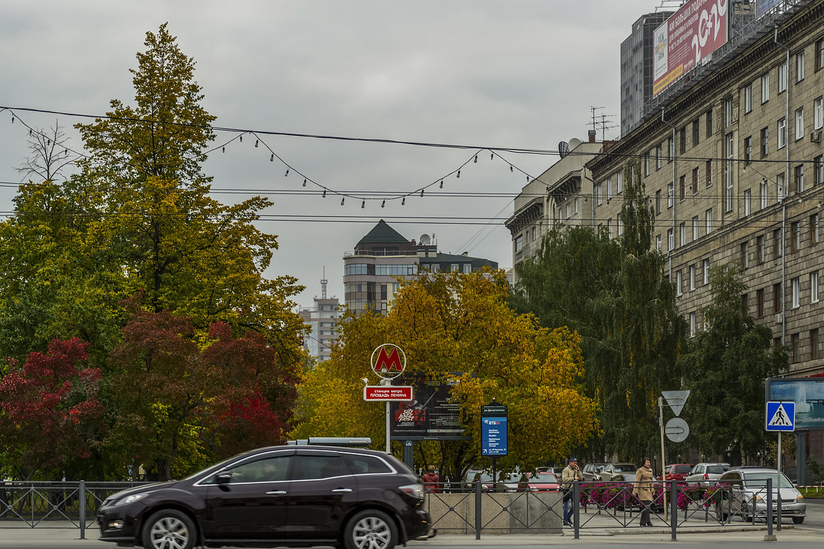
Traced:
<path fill-rule="evenodd" d="M 591 106 L 603 107 L 597 114 L 616 125 L 606 138 L 620 135 L 620 43 L 661 3 L 2 2 L 0 105 L 76 114 L 105 114 L 112 99 L 133 105 L 129 68 L 137 67 L 146 32 L 168 21 L 197 63 L 204 107 L 219 127 L 555 151 L 560 141 L 587 138 Z M 58 120 L 70 147 L 81 149 L 72 125 L 87 119 L 16 114 L 37 128 Z M 0 113 L 2 216 L 12 211 L 27 134 Z M 218 132 L 215 144 L 233 137 Z M 255 148 L 247 136 L 213 152 L 204 171 L 222 202 L 255 194 L 273 200 L 260 227 L 279 235 L 280 248 L 266 275 L 297 277 L 307 286 L 296 298 L 304 306 L 321 295 L 324 267 L 328 295 L 343 302 L 343 256 L 381 218 L 408 239 L 434 235 L 442 252 L 468 251 L 511 267 L 503 221 L 513 213 L 513 195 L 525 174 L 541 174 L 557 160 L 512 152 L 490 160 L 484 151 L 475 163 L 474 149 L 260 137 L 291 166 L 288 177 L 287 167 L 270 162 L 265 146 Z M 467 160 L 457 178 L 453 172 Z M 443 188 L 436 183 L 420 197 L 420 188 L 442 178 Z M 409 193 L 404 206 L 391 199 Z M 343 206 L 341 194 L 349 196 Z"/>

